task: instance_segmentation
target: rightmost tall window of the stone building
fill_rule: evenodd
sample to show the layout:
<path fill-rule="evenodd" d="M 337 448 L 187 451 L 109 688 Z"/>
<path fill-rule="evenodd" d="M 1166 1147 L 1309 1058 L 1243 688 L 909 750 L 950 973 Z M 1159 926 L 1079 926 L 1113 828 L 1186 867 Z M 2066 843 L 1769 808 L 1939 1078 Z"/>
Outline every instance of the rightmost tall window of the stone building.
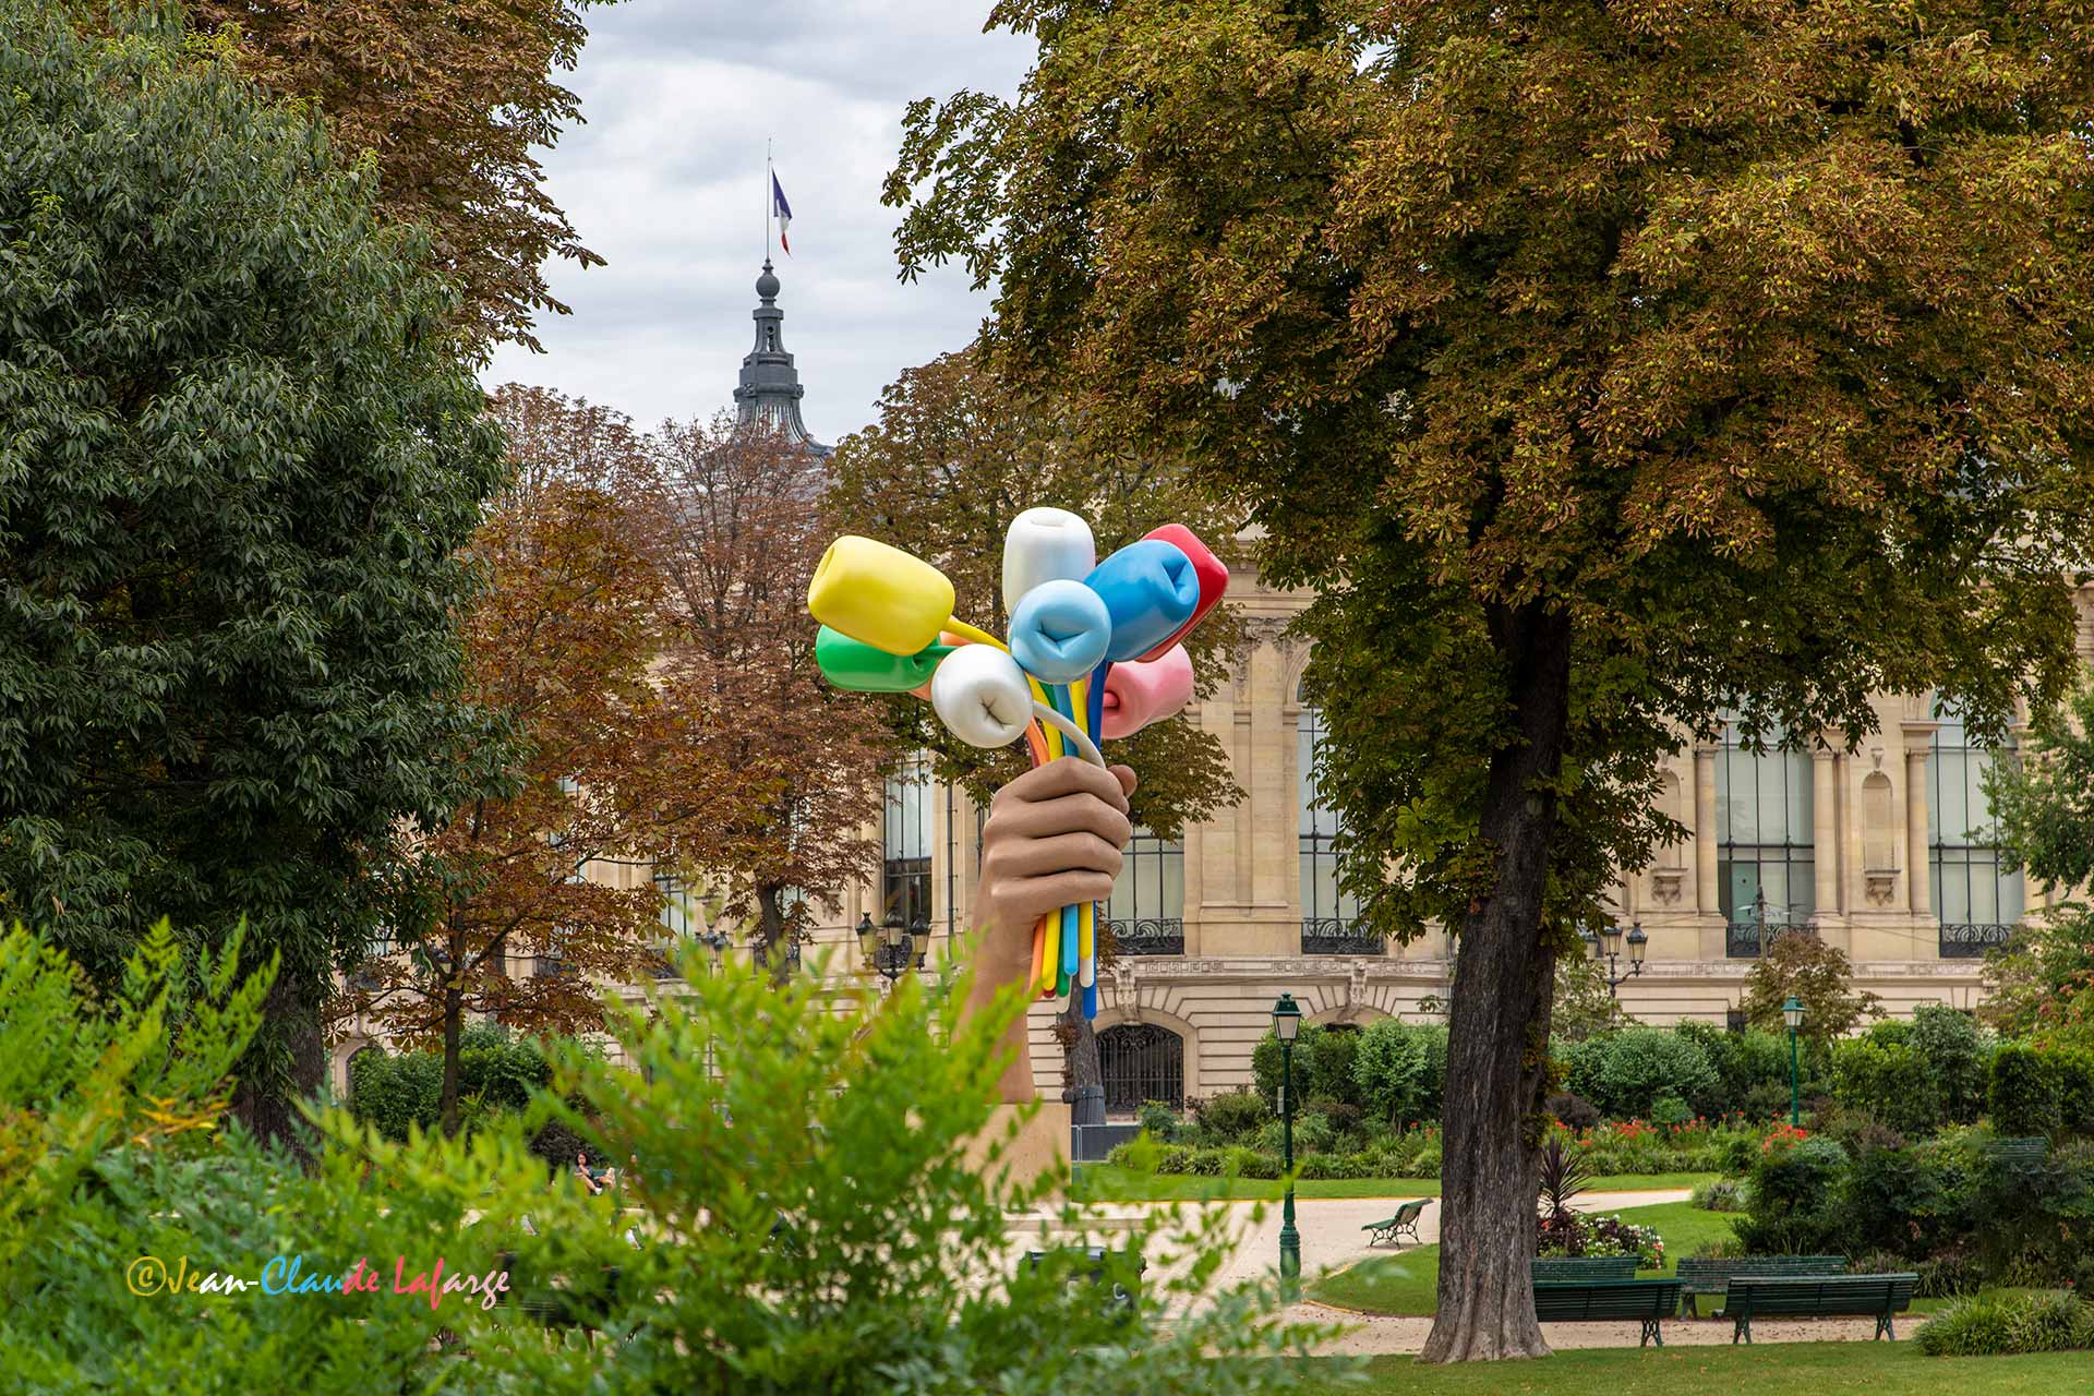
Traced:
<path fill-rule="evenodd" d="M 1962 714 L 1935 703 L 1935 751 L 1926 764 L 1926 875 L 1941 917 L 1941 959 L 1977 959 L 2012 936 L 2023 913 L 2021 873 L 2002 869 L 2000 823 L 1985 800 L 1985 772 L 2014 760 L 2006 747 L 1970 743 Z"/>

